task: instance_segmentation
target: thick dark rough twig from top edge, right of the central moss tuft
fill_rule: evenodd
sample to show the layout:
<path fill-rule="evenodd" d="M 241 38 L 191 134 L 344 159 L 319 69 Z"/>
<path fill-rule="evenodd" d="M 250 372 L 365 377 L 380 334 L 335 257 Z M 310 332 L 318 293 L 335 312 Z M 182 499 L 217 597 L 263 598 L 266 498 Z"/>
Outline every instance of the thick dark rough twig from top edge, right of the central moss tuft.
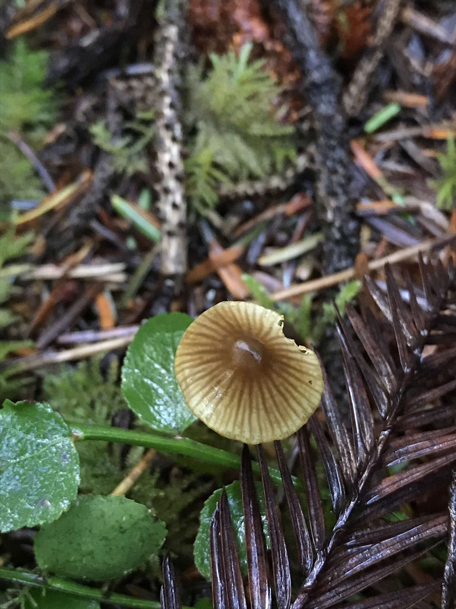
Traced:
<path fill-rule="evenodd" d="M 264 3 L 266 4 L 266 3 Z M 323 272 L 354 263 L 359 220 L 351 177 L 347 125 L 339 104 L 340 76 L 320 47 L 305 9 L 297 0 L 274 0 L 285 25 L 285 40 L 303 74 L 302 88 L 317 120 L 316 211 L 322 222 Z"/>

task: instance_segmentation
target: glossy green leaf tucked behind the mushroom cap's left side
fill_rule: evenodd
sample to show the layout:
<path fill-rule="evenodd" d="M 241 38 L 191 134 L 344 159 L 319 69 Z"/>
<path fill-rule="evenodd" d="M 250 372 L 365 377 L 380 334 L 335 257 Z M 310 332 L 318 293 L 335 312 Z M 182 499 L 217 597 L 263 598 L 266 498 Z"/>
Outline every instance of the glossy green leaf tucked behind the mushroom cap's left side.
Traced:
<path fill-rule="evenodd" d="M 174 376 L 174 356 L 193 319 L 185 313 L 161 313 L 136 333 L 122 367 L 122 393 L 131 410 L 152 429 L 184 431 L 196 420 Z"/>

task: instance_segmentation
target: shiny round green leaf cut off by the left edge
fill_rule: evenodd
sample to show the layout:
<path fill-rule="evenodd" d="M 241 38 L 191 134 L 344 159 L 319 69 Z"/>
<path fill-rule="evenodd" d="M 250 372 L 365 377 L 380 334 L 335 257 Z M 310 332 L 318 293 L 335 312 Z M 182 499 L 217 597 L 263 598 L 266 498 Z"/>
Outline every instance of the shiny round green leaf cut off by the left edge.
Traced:
<path fill-rule="evenodd" d="M 0 528 L 50 523 L 77 495 L 79 458 L 48 404 L 5 400 L 0 410 Z"/>

